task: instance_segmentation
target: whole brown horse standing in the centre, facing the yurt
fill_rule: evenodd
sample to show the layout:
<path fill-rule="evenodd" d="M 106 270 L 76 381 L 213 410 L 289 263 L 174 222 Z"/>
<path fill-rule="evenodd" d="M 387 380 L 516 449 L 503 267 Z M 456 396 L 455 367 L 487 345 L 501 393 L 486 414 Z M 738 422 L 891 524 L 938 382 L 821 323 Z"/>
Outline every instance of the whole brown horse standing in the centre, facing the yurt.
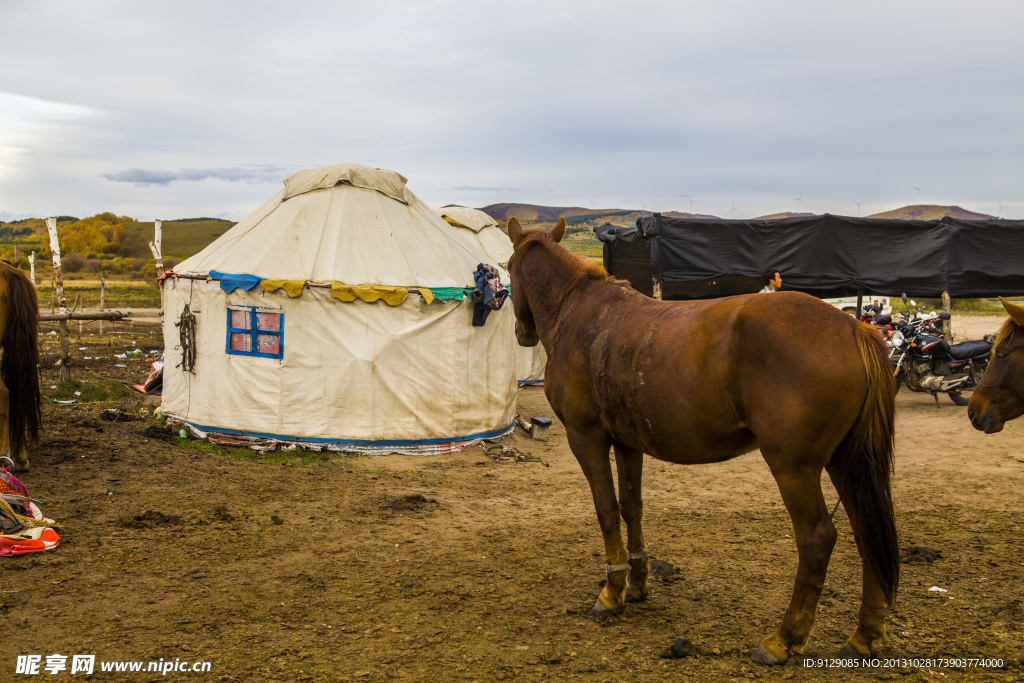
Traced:
<path fill-rule="evenodd" d="M 591 613 L 647 597 L 643 454 L 697 464 L 760 447 L 800 562 L 781 625 L 752 657 L 784 663 L 810 636 L 836 543 L 822 469 L 862 558 L 859 624 L 842 652 L 870 655 L 899 581 L 889 485 L 896 388 L 881 336 L 800 293 L 657 301 L 562 249 L 563 220 L 550 232 L 524 232 L 512 218 L 508 231 L 516 336 L 548 352 L 545 393 L 590 482 L 604 536 L 608 581 Z"/>

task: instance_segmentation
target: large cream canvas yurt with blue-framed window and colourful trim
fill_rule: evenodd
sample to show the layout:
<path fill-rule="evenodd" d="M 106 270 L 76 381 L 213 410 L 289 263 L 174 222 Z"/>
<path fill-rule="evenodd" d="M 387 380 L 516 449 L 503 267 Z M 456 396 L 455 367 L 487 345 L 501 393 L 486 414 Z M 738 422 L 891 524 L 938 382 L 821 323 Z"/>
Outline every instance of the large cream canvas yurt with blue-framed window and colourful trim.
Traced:
<path fill-rule="evenodd" d="M 473 326 L 489 260 L 394 171 L 300 171 L 163 281 L 162 410 L 255 447 L 438 453 L 506 434 L 511 301 Z"/>

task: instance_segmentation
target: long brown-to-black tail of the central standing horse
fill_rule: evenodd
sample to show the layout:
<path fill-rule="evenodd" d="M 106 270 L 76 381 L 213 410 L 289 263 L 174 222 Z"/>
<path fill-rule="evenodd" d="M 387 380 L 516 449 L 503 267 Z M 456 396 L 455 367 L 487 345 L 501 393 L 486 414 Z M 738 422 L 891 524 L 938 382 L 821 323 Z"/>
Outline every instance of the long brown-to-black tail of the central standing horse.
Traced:
<path fill-rule="evenodd" d="M 896 383 L 885 341 L 877 330 L 858 323 L 857 348 L 867 373 L 867 395 L 860 415 L 828 463 L 844 505 L 854 512 L 857 545 L 873 570 L 886 601 L 899 585 L 899 545 L 890 475 L 893 472 Z"/>

